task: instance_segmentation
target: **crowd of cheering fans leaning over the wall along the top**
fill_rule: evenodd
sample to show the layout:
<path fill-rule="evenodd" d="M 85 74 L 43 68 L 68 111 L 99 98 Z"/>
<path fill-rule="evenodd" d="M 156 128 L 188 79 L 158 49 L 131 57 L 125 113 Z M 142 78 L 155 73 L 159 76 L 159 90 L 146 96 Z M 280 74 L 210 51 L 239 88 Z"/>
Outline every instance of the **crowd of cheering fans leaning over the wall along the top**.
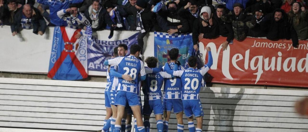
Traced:
<path fill-rule="evenodd" d="M 11 26 L 12 35 L 33 29 L 43 35 L 47 26 L 74 29 L 91 26 L 93 31 L 137 30 L 138 44 L 149 31 L 193 33 L 194 48 L 201 38 L 247 36 L 270 40 L 308 38 L 308 0 L 0 0 L 0 24 Z M 50 14 L 46 11 L 50 10 Z M 47 23 L 49 23 L 47 25 Z"/>

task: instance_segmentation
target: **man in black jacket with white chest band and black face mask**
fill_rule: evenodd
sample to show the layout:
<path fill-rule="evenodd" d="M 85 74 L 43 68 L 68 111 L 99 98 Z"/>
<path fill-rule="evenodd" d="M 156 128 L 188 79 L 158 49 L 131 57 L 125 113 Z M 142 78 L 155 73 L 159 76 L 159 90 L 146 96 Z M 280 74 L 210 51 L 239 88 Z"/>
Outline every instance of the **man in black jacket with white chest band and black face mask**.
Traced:
<path fill-rule="evenodd" d="M 168 2 L 167 7 L 167 11 L 160 10 L 156 17 L 156 20 L 162 30 L 168 34 L 187 32 L 189 30 L 188 21 L 177 14 L 176 2 Z"/>

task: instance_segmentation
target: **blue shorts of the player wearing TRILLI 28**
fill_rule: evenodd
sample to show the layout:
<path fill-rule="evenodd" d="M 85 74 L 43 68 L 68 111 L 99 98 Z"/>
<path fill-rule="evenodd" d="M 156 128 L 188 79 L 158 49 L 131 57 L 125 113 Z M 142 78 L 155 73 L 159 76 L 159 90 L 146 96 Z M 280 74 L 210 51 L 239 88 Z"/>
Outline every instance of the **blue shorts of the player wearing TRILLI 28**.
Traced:
<path fill-rule="evenodd" d="M 126 106 L 128 103 L 129 106 L 139 105 L 139 97 L 136 93 L 126 92 L 126 91 L 117 91 L 115 97 L 115 105 Z"/>

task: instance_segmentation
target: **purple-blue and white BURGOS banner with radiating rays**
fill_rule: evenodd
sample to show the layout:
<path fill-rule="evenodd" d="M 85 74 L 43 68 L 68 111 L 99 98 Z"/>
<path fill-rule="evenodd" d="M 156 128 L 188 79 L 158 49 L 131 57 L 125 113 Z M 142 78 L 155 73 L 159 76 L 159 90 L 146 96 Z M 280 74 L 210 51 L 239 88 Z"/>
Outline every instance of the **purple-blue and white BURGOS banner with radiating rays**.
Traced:
<path fill-rule="evenodd" d="M 106 59 L 111 58 L 113 49 L 119 44 L 126 44 L 128 47 L 128 53 L 126 55 L 129 55 L 130 46 L 132 44 L 138 44 L 137 36 L 138 33 L 128 37 L 127 39 L 116 41 L 104 41 L 92 37 L 93 44 L 91 45 L 91 43 L 88 43 L 87 50 L 88 70 L 106 72 L 108 67 L 103 65 L 103 63 Z"/>

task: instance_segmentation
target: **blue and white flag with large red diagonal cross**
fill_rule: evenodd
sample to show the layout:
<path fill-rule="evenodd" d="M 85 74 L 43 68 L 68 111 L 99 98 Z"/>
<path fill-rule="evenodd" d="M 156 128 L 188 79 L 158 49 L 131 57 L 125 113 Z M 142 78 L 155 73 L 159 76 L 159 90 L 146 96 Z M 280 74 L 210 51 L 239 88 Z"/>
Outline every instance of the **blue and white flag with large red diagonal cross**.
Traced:
<path fill-rule="evenodd" d="M 91 43 L 92 30 L 79 39 L 74 36 L 81 30 L 55 27 L 51 47 L 48 77 L 55 80 L 79 80 L 87 78 L 87 43 Z"/>

